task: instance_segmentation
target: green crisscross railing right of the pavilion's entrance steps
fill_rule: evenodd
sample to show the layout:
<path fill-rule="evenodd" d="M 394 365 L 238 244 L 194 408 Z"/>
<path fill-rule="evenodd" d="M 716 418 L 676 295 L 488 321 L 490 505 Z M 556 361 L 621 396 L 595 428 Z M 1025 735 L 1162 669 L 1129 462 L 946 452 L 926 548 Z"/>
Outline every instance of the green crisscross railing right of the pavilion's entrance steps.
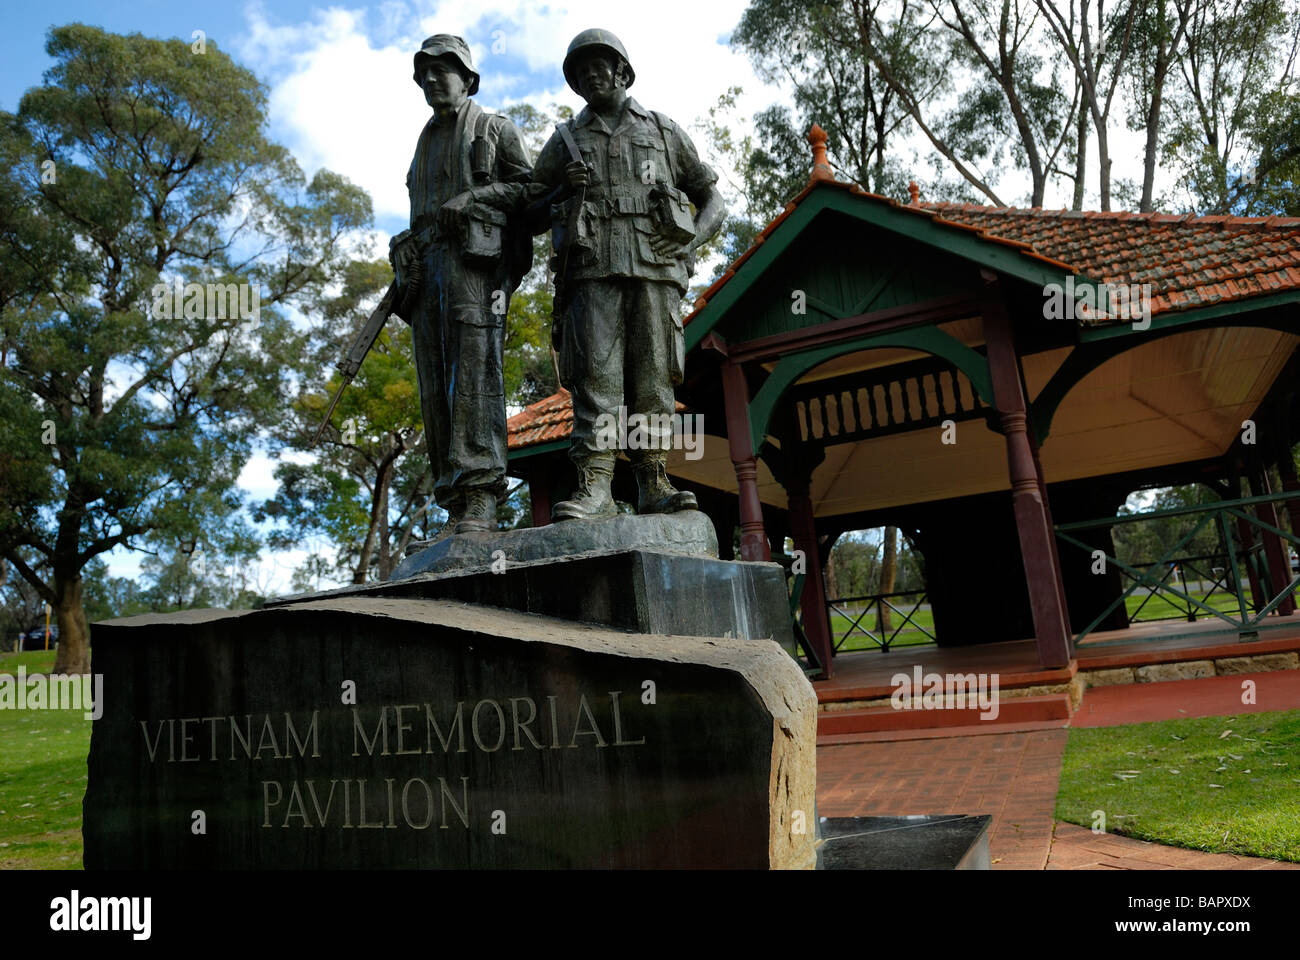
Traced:
<path fill-rule="evenodd" d="M 1202 503 L 1199 506 L 1186 506 L 1186 507 L 1171 507 L 1167 510 L 1152 510 L 1144 514 L 1130 514 L 1126 516 L 1106 516 L 1098 520 L 1080 520 L 1078 523 L 1062 523 L 1056 528 L 1057 536 L 1067 544 L 1080 548 L 1088 554 L 1096 557 L 1100 553 L 1106 565 L 1114 565 L 1117 570 L 1123 574 L 1130 585 L 1115 597 L 1105 610 L 1097 614 L 1093 620 L 1084 627 L 1076 636 L 1075 643 L 1086 637 L 1097 624 L 1105 620 L 1110 614 L 1121 605 L 1126 605 L 1128 597 L 1134 596 L 1140 589 L 1147 589 L 1148 596 L 1138 606 L 1131 615 L 1128 615 L 1128 622 L 1132 623 L 1138 619 L 1138 614 L 1141 613 L 1143 607 L 1150 601 L 1152 597 L 1160 594 L 1162 598 L 1167 600 L 1175 609 L 1182 613 L 1179 618 L 1187 617 L 1190 620 L 1196 620 L 1200 617 L 1217 617 L 1218 619 L 1231 624 L 1238 632 L 1248 632 L 1253 627 L 1257 627 L 1265 617 L 1271 614 L 1282 604 L 1284 604 L 1300 587 L 1300 576 L 1292 575 L 1290 563 L 1286 563 L 1286 555 L 1288 550 L 1284 548 L 1282 550 L 1284 570 L 1274 571 L 1269 566 L 1268 549 L 1262 541 L 1262 535 L 1256 535 L 1251 529 L 1251 545 L 1244 546 L 1240 539 L 1234 532 L 1234 526 L 1245 524 L 1247 529 L 1258 528 L 1264 535 L 1273 535 L 1279 537 L 1284 544 L 1291 546 L 1300 546 L 1300 539 L 1280 529 L 1271 523 L 1266 523 L 1258 516 L 1252 516 L 1245 507 L 1258 507 L 1264 503 L 1277 503 L 1280 501 L 1291 500 L 1295 494 L 1292 493 L 1275 493 L 1266 494 L 1262 497 L 1243 497 L 1240 500 L 1225 500 L 1217 503 Z M 1127 565 L 1122 562 L 1118 557 L 1112 557 L 1110 554 L 1100 550 L 1095 544 L 1086 544 L 1082 540 L 1072 537 L 1071 532 L 1086 531 L 1086 529 L 1098 529 L 1102 527 L 1117 527 L 1126 523 L 1141 523 L 1144 520 L 1153 520 L 1166 516 L 1197 516 L 1195 524 L 1191 529 L 1183 533 L 1178 541 L 1170 546 L 1164 555 L 1158 559 L 1141 562 L 1136 565 Z M 1230 523 L 1235 520 L 1234 523 Z M 1222 545 L 1225 550 L 1218 554 L 1208 554 L 1200 557 L 1178 557 L 1178 552 L 1184 549 L 1187 544 L 1196 537 L 1202 529 L 1210 523 L 1218 526 L 1218 533 L 1222 539 Z M 1210 567 L 1210 589 L 1202 596 L 1193 596 L 1195 591 L 1187 588 L 1186 576 L 1182 576 L 1183 589 L 1179 589 L 1171 583 L 1175 571 L 1180 571 L 1184 566 L 1191 565 L 1191 568 L 1196 574 L 1201 574 L 1201 583 L 1204 584 L 1204 572 L 1196 568 L 1196 563 L 1204 563 L 1209 561 L 1222 561 L 1221 566 Z M 1243 580 L 1251 581 L 1249 574 L 1253 572 L 1253 581 L 1260 584 L 1260 594 L 1256 594 L 1252 589 L 1252 602 L 1247 602 L 1245 591 L 1243 589 Z M 1274 589 L 1275 583 L 1286 583 L 1282 589 Z M 1225 593 L 1231 589 L 1230 597 L 1234 598 L 1236 615 L 1234 617 L 1231 610 L 1221 610 L 1212 605 L 1209 601 L 1216 593 L 1216 591 L 1223 591 Z M 1174 604 L 1174 600 L 1180 601 Z M 1147 618 L 1150 619 L 1170 619 L 1170 618 Z"/>

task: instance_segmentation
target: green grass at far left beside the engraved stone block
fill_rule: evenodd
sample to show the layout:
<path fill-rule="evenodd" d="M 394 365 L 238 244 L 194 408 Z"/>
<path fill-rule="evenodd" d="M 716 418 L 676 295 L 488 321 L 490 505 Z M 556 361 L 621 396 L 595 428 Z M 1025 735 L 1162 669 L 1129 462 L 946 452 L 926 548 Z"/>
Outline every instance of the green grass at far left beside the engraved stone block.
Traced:
<path fill-rule="evenodd" d="M 0 654 L 0 674 L 46 673 L 55 652 Z M 0 710 L 0 869 L 81 869 L 90 721 L 82 710 Z"/>

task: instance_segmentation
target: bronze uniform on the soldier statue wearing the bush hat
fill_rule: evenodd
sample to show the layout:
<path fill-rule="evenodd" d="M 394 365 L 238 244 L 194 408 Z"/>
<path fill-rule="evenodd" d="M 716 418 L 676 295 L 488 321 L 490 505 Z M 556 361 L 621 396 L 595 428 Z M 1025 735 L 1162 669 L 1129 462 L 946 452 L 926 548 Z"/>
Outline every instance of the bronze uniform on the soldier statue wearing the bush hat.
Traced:
<path fill-rule="evenodd" d="M 477 77 L 471 92 L 476 88 Z M 476 139 L 486 146 L 474 147 Z M 473 489 L 498 500 L 506 494 L 506 310 L 532 264 L 532 237 L 489 207 L 514 204 L 530 169 L 515 125 L 465 100 L 454 120 L 429 120 L 407 173 L 419 276 L 398 312 L 412 328 L 434 498 L 452 518 Z M 438 211 L 464 191 L 476 204 L 456 229 L 445 230 Z M 467 232 L 491 235 L 494 226 L 498 256 L 472 258 Z"/>

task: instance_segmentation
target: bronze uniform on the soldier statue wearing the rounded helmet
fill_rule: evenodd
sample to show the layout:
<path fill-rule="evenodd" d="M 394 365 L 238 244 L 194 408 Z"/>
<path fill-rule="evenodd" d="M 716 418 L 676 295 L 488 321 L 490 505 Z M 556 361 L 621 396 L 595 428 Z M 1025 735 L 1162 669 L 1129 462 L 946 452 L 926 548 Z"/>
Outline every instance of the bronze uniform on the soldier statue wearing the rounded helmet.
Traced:
<path fill-rule="evenodd" d="M 653 193 L 666 182 L 699 196 L 718 174 L 699 160 L 680 126 L 627 98 L 611 130 L 590 108 L 569 124 L 589 173 L 564 286 L 564 312 L 556 337 L 560 379 L 573 395 L 571 457 L 580 464 L 602 451 L 597 419 L 673 412 L 672 388 L 681 382 L 685 341 L 680 304 L 686 293 L 686 258 L 663 258 L 651 248 L 656 225 Z M 566 185 L 569 151 L 556 131 L 533 169 L 534 183 Z M 571 222 L 573 199 L 554 211 Z M 667 421 L 663 421 L 667 423 Z M 660 431 L 651 442 L 667 450 Z M 629 450 L 637 463 L 646 451 Z"/>

